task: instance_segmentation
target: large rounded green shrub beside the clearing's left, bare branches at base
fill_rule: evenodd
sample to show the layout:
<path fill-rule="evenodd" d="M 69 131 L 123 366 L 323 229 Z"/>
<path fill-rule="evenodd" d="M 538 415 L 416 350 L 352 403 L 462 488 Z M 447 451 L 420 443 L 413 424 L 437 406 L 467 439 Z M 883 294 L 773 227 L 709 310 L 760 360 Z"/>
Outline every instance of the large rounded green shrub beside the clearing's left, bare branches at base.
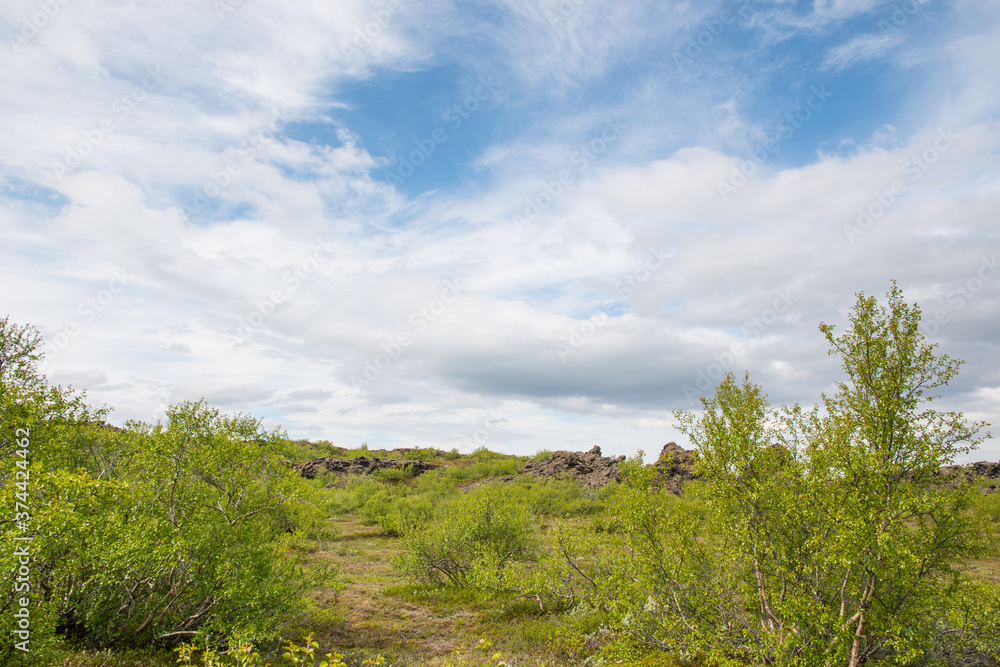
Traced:
<path fill-rule="evenodd" d="M 305 485 L 277 454 L 280 434 L 256 420 L 203 402 L 172 406 L 167 417 L 129 424 L 139 446 L 127 491 L 79 545 L 89 576 L 64 606 L 100 645 L 193 630 L 271 637 L 301 591 L 276 538 L 308 515 L 285 509 Z"/>

